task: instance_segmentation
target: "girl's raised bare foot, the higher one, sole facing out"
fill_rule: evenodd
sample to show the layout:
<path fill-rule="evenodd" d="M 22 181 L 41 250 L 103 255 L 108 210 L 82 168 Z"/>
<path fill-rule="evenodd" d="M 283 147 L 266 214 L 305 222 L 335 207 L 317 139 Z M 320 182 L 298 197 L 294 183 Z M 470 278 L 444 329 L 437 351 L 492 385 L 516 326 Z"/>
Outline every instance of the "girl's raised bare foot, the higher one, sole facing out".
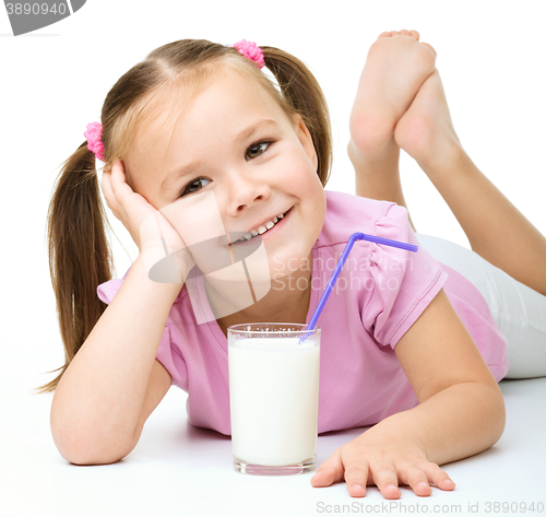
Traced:
<path fill-rule="evenodd" d="M 436 51 L 417 31 L 382 33 L 371 45 L 351 113 L 351 160 L 373 160 L 393 148 L 397 121 L 435 71 Z"/>

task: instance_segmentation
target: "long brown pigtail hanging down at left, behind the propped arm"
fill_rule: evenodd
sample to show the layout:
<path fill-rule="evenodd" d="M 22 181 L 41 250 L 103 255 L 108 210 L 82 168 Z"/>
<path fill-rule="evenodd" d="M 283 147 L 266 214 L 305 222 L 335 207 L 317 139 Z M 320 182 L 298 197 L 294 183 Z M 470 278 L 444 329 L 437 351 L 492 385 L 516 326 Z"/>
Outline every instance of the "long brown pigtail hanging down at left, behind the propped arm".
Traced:
<path fill-rule="evenodd" d="M 64 344 L 61 373 L 38 388 L 54 391 L 70 362 L 106 309 L 97 285 L 111 279 L 112 257 L 95 155 L 82 143 L 64 163 L 48 211 L 49 273 L 57 298 L 57 316 Z M 107 224 L 107 223 L 106 223 Z"/>

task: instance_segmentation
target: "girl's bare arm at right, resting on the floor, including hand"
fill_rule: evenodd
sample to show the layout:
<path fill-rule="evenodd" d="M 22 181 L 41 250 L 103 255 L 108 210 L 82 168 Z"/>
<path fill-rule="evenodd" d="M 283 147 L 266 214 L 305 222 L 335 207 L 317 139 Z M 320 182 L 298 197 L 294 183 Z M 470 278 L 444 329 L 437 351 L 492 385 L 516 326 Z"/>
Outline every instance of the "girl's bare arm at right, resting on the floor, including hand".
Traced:
<path fill-rule="evenodd" d="M 335 450 L 313 486 L 345 479 L 353 496 L 377 484 L 399 498 L 399 484 L 430 495 L 429 483 L 452 490 L 438 463 L 478 454 L 505 428 L 505 403 L 471 336 L 443 290 L 395 346 L 419 406 L 394 414 Z"/>

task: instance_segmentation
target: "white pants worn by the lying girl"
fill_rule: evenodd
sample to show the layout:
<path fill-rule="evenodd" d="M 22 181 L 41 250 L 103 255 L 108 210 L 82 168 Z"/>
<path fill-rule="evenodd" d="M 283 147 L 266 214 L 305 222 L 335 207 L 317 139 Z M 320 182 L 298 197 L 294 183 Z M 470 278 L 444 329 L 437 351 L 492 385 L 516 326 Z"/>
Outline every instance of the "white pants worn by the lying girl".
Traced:
<path fill-rule="evenodd" d="M 486 299 L 508 341 L 507 378 L 546 376 L 546 296 L 467 248 L 430 235 L 417 234 L 417 238 L 436 260 L 470 280 Z"/>

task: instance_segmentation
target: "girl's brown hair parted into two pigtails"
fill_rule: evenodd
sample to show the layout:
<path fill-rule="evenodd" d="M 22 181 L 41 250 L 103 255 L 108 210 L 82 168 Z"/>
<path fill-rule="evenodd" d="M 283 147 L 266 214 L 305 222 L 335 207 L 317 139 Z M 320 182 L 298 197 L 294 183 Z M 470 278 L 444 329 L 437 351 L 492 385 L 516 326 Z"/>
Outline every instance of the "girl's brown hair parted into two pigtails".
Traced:
<path fill-rule="evenodd" d="M 324 186 L 332 161 L 328 106 L 319 83 L 294 56 L 275 47 L 261 47 L 265 67 L 278 90 L 250 59 L 235 48 L 205 39 L 181 39 L 153 50 L 124 73 L 106 96 L 102 110 L 105 168 L 127 155 L 139 127 L 157 110 L 157 99 L 174 92 L 188 101 L 203 82 L 228 67 L 254 80 L 288 117 L 298 114 L 312 138 L 317 174 Z M 100 202 L 95 156 L 83 142 L 63 164 L 48 211 L 49 271 L 57 299 L 57 314 L 64 344 L 60 374 L 38 388 L 56 389 L 106 305 L 96 289 L 111 279 L 114 261 L 106 236 L 107 218 Z"/>

